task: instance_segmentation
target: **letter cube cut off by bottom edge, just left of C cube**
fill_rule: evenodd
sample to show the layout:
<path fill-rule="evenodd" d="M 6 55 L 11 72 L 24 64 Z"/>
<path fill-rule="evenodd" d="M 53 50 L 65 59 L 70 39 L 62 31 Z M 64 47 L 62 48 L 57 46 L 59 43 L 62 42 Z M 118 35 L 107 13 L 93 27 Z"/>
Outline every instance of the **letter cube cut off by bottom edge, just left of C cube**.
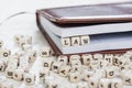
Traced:
<path fill-rule="evenodd" d="M 108 78 L 101 78 L 99 80 L 99 88 L 112 88 L 111 87 L 111 80 Z"/>

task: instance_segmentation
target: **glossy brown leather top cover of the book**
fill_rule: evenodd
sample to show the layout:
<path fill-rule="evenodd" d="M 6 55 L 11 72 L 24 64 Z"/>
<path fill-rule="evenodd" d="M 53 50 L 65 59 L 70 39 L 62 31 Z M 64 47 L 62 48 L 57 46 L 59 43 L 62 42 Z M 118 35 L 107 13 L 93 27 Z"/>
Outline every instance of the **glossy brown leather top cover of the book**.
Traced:
<path fill-rule="evenodd" d="M 132 21 L 132 2 L 42 9 L 42 13 L 58 24 L 130 22 Z"/>

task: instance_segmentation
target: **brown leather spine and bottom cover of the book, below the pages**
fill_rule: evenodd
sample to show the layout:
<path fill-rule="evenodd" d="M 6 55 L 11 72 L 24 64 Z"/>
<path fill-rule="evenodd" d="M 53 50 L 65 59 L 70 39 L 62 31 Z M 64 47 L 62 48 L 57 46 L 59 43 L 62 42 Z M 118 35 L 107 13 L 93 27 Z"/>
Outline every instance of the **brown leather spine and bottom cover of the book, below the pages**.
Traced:
<path fill-rule="evenodd" d="M 47 42 L 50 43 L 51 47 L 53 48 L 54 51 L 54 54 L 56 56 L 58 55 L 64 55 L 59 48 L 55 45 L 55 43 L 52 41 L 52 38 L 50 37 L 50 35 L 45 32 L 44 28 L 41 25 L 41 22 L 40 22 L 40 14 L 42 13 L 41 10 L 37 10 L 36 11 L 36 23 L 37 23 L 37 26 L 40 29 L 40 31 L 43 33 L 43 35 L 45 36 L 45 38 L 47 40 Z M 100 53 L 100 54 L 122 54 L 122 53 L 125 53 L 127 51 L 129 51 L 131 48 L 124 48 L 124 50 L 112 50 L 112 51 L 100 51 L 100 52 L 91 52 L 91 54 L 95 54 L 95 53 Z M 79 53 L 78 55 L 82 55 L 82 54 L 86 54 L 86 53 Z M 88 53 L 87 53 L 88 54 Z M 70 56 L 72 54 L 66 54 L 67 56 Z"/>

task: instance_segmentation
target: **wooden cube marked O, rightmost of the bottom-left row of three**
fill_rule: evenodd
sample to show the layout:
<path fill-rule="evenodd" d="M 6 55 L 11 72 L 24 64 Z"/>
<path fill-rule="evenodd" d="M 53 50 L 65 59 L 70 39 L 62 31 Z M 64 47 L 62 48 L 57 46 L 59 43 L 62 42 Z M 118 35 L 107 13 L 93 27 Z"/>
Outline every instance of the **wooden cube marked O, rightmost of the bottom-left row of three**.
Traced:
<path fill-rule="evenodd" d="M 34 85 L 35 84 L 35 75 L 31 73 L 24 74 L 24 84 L 25 85 Z"/>

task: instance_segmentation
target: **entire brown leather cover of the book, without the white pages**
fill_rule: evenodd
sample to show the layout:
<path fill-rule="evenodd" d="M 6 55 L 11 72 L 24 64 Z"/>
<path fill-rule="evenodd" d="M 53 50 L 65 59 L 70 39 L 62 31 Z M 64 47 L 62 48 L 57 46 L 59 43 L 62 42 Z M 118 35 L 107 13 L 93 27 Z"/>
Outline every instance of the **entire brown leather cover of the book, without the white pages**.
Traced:
<path fill-rule="evenodd" d="M 53 42 L 48 33 L 44 30 L 41 23 L 41 16 L 48 19 L 61 26 L 78 25 L 78 24 L 100 24 L 100 23 L 119 23 L 132 22 L 132 2 L 111 3 L 111 4 L 95 4 L 95 6 L 79 6 L 66 8 L 42 9 L 36 11 L 36 22 L 40 31 L 46 37 L 55 55 L 64 55 L 61 50 Z M 101 54 L 122 54 L 131 48 L 110 50 L 100 52 Z M 86 53 L 76 53 L 82 55 Z M 72 54 L 66 54 L 70 56 Z"/>

